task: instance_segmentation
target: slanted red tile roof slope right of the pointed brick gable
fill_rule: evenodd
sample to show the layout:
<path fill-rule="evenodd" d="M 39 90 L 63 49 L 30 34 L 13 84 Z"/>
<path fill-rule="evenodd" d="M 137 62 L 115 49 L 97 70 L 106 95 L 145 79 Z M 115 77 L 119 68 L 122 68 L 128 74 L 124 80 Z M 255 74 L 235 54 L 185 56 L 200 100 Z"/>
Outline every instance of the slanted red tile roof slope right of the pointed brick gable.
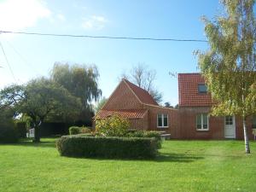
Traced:
<path fill-rule="evenodd" d="M 125 83 L 131 88 L 134 94 L 138 97 L 138 99 L 146 104 L 157 105 L 158 103 L 154 101 L 154 98 L 150 96 L 147 90 L 143 90 L 142 88 L 138 87 L 136 84 L 132 84 L 127 79 L 123 79 Z"/>

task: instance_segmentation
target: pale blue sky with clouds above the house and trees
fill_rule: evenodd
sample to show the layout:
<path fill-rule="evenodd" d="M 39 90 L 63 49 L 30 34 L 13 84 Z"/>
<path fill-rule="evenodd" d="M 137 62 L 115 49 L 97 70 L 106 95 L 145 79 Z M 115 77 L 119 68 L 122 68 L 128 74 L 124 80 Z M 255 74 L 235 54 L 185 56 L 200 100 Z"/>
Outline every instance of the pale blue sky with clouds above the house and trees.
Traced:
<path fill-rule="evenodd" d="M 0 30 L 71 33 L 95 36 L 206 39 L 201 15 L 218 15 L 218 0 L 0 0 Z M 163 102 L 177 104 L 172 73 L 198 72 L 193 51 L 206 43 L 53 38 L 0 34 L 18 83 L 48 76 L 55 61 L 94 63 L 103 96 L 117 86 L 119 75 L 138 62 L 157 72 L 155 86 Z M 18 54 L 15 52 L 15 49 Z M 0 51 L 0 88 L 15 83 Z"/>

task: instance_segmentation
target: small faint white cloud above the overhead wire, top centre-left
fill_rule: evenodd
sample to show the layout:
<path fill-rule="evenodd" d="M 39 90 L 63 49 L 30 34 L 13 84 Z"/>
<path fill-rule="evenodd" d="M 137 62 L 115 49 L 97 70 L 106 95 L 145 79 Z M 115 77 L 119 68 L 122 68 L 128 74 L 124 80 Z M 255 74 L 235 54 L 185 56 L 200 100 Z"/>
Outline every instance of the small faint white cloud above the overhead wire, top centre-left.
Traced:
<path fill-rule="evenodd" d="M 82 27 L 84 29 L 102 30 L 108 23 L 108 20 L 105 17 L 99 15 L 92 15 L 89 18 L 84 18 L 83 20 Z"/>

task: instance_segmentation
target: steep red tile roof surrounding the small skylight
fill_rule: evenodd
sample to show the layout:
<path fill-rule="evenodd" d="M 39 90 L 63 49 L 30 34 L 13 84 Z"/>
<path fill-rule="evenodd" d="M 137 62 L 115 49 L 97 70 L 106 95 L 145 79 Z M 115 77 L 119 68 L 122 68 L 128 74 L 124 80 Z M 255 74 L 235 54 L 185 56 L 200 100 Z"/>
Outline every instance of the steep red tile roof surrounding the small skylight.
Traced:
<path fill-rule="evenodd" d="M 180 107 L 207 107 L 212 106 L 210 94 L 198 93 L 198 84 L 205 84 L 201 73 L 179 73 L 178 105 Z"/>

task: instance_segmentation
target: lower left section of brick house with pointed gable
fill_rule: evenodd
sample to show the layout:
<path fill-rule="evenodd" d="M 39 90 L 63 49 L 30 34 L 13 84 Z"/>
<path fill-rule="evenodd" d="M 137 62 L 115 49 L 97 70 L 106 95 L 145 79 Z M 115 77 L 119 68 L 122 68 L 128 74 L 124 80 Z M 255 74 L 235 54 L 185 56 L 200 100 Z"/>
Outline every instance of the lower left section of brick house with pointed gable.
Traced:
<path fill-rule="evenodd" d="M 178 130 L 177 109 L 160 107 L 146 90 L 126 79 L 113 90 L 94 122 L 113 114 L 129 119 L 132 129 L 166 131 L 171 135 Z"/>

